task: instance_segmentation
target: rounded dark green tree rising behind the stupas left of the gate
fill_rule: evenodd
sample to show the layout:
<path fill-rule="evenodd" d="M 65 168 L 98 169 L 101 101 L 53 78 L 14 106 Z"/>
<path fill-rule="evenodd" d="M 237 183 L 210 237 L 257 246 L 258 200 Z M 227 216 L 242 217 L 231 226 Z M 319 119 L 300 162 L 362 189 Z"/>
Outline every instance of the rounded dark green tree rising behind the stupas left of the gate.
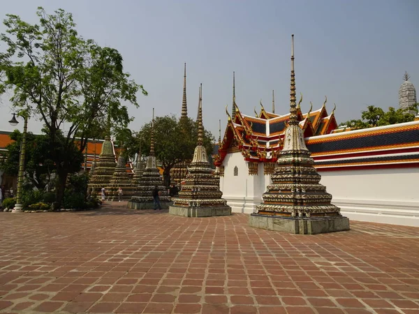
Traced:
<path fill-rule="evenodd" d="M 154 121 L 154 151 L 163 167 L 163 179 L 166 186 L 170 184 L 170 170 L 185 160 L 191 160 L 197 144 L 198 130 L 196 123 L 187 119 L 180 121 L 174 116 L 156 117 Z M 138 133 L 137 143 L 142 143 L 142 154 L 149 154 L 152 123 L 142 126 Z M 212 153 L 214 137 L 205 130 L 204 146 L 207 153 Z M 138 151 L 138 146 L 136 147 Z"/>

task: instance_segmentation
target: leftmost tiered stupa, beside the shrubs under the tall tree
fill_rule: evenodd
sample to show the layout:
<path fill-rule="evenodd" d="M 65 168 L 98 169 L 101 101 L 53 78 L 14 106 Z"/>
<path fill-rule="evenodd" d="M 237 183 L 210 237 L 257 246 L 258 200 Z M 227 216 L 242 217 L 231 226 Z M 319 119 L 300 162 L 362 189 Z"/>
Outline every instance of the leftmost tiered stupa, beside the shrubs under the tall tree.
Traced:
<path fill-rule="evenodd" d="M 115 152 L 112 142 L 110 142 L 110 136 L 107 135 L 102 144 L 101 154 L 94 168 L 94 174 L 89 181 L 88 188 L 91 191 L 91 195 L 100 193 L 101 188 L 109 185 L 115 171 L 115 165 Z"/>

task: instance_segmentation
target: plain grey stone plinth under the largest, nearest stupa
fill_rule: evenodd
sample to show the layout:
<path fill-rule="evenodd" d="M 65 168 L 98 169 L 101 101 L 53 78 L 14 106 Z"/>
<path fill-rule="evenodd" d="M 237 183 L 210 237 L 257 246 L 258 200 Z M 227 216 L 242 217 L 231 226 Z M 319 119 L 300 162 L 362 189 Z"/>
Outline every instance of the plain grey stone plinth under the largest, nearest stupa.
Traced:
<path fill-rule="evenodd" d="M 319 218 L 288 218 L 251 214 L 249 225 L 265 230 L 293 234 L 319 234 L 350 230 L 349 218 L 344 216 Z"/>

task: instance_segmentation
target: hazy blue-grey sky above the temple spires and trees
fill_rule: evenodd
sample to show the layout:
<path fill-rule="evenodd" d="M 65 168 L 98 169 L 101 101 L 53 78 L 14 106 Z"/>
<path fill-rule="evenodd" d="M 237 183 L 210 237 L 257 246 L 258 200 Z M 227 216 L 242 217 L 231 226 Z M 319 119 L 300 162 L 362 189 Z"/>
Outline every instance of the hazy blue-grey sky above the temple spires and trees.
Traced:
<path fill-rule="evenodd" d="M 156 115 L 179 114 L 183 66 L 187 67 L 189 117 L 196 119 L 198 87 L 203 83 L 203 119 L 218 138 L 231 111 L 232 76 L 236 102 L 244 114 L 259 112 L 262 98 L 276 112 L 289 105 L 291 34 L 295 34 L 297 94 L 302 110 L 337 104 L 338 122 L 360 117 L 367 105 L 398 106 L 398 89 L 407 70 L 419 89 L 419 1 L 247 1 L 247 0 L 72 0 L 1 1 L 1 17 L 20 15 L 37 22 L 36 8 L 73 13 L 84 38 L 114 47 L 124 68 L 149 96 L 138 94 L 130 107 L 138 130 Z M 4 32 L 3 24 L 0 32 Z M 3 47 L 0 47 L 3 49 Z M 11 130 L 8 96 L 0 104 L 0 129 Z M 22 128 L 22 124 L 20 124 Z M 31 119 L 29 130 L 41 122 Z"/>

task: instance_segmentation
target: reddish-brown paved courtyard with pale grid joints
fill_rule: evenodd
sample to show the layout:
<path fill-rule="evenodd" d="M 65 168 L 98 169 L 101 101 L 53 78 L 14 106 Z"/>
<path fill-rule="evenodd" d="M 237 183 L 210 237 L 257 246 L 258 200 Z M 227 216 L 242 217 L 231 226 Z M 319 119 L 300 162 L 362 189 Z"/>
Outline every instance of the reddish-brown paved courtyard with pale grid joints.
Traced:
<path fill-rule="evenodd" d="M 1 313 L 419 313 L 419 228 L 315 236 L 248 216 L 0 213 Z"/>

